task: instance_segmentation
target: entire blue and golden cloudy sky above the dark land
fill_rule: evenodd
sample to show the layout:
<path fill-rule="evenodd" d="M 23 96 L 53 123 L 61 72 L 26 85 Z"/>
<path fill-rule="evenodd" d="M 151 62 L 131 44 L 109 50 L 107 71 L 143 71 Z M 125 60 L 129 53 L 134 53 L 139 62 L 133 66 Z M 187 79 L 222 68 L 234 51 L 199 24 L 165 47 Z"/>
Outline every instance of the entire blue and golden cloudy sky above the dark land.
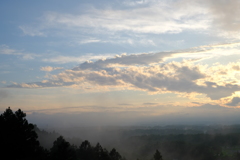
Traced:
<path fill-rule="evenodd" d="M 0 2 L 0 111 L 47 125 L 240 118 L 239 0 Z"/>

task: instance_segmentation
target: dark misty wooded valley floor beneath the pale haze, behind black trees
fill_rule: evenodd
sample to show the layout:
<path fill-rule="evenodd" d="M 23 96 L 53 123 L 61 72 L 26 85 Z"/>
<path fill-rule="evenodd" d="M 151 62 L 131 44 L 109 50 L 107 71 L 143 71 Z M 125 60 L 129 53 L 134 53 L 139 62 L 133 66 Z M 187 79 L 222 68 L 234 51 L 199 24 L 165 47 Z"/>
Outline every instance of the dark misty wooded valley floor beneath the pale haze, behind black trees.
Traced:
<path fill-rule="evenodd" d="M 55 132 L 77 146 L 88 139 L 93 145 L 99 142 L 107 149 L 115 147 L 126 159 L 151 159 L 158 149 L 166 160 L 225 160 L 234 159 L 240 150 L 240 125 L 85 126 L 55 129 Z"/>

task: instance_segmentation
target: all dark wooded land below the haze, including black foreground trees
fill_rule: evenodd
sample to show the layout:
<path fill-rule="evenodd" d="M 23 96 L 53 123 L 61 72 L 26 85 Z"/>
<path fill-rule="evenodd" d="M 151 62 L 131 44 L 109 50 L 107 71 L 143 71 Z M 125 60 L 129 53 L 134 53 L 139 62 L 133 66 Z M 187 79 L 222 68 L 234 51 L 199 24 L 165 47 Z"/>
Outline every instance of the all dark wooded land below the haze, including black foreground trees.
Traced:
<path fill-rule="evenodd" d="M 127 127 L 115 140 L 111 130 L 91 144 L 78 137 L 45 131 L 21 109 L 0 115 L 1 156 L 10 160 L 239 160 L 240 127 Z M 97 134 L 97 133 L 96 133 Z M 108 139 L 109 138 L 109 139 Z"/>

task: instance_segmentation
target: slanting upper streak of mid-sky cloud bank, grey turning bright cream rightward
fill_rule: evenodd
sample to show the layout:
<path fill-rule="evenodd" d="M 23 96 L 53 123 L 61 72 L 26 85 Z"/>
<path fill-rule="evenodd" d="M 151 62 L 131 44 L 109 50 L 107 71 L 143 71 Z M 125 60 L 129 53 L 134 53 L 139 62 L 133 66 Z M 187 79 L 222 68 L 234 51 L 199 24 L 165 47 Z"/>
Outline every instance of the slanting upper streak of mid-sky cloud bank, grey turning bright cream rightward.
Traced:
<path fill-rule="evenodd" d="M 219 57 L 221 55 L 237 54 L 236 50 L 239 49 L 240 43 L 224 43 L 215 45 L 206 45 L 194 47 L 186 50 L 177 50 L 170 52 L 158 53 L 141 53 L 141 54 L 122 54 L 116 55 L 114 58 L 99 59 L 95 62 L 85 61 L 73 70 L 101 70 L 110 68 L 111 64 L 114 65 L 149 65 L 153 63 L 164 62 L 166 59 L 171 58 L 188 58 L 189 61 L 196 62 L 203 60 L 206 57 Z"/>

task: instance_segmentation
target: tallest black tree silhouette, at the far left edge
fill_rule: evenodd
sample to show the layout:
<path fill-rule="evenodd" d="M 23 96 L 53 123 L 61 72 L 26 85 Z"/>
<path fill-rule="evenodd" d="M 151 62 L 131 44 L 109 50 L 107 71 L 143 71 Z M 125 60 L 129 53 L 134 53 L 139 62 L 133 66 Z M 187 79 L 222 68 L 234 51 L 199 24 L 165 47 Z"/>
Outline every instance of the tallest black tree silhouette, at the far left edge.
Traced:
<path fill-rule="evenodd" d="M 2 157 L 8 159 L 36 159 L 38 149 L 37 134 L 34 125 L 26 120 L 21 109 L 15 113 L 8 107 L 0 115 L 0 142 Z"/>

